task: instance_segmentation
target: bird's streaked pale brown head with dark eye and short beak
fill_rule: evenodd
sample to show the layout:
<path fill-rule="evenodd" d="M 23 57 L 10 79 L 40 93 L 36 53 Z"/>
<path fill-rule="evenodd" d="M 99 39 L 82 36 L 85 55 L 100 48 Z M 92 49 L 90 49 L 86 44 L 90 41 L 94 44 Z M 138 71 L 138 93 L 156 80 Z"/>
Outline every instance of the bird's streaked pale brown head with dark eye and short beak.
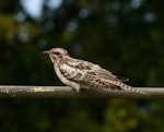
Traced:
<path fill-rule="evenodd" d="M 68 51 L 62 48 L 52 48 L 43 53 L 48 53 L 52 63 L 60 63 L 63 58 L 69 57 Z"/>

